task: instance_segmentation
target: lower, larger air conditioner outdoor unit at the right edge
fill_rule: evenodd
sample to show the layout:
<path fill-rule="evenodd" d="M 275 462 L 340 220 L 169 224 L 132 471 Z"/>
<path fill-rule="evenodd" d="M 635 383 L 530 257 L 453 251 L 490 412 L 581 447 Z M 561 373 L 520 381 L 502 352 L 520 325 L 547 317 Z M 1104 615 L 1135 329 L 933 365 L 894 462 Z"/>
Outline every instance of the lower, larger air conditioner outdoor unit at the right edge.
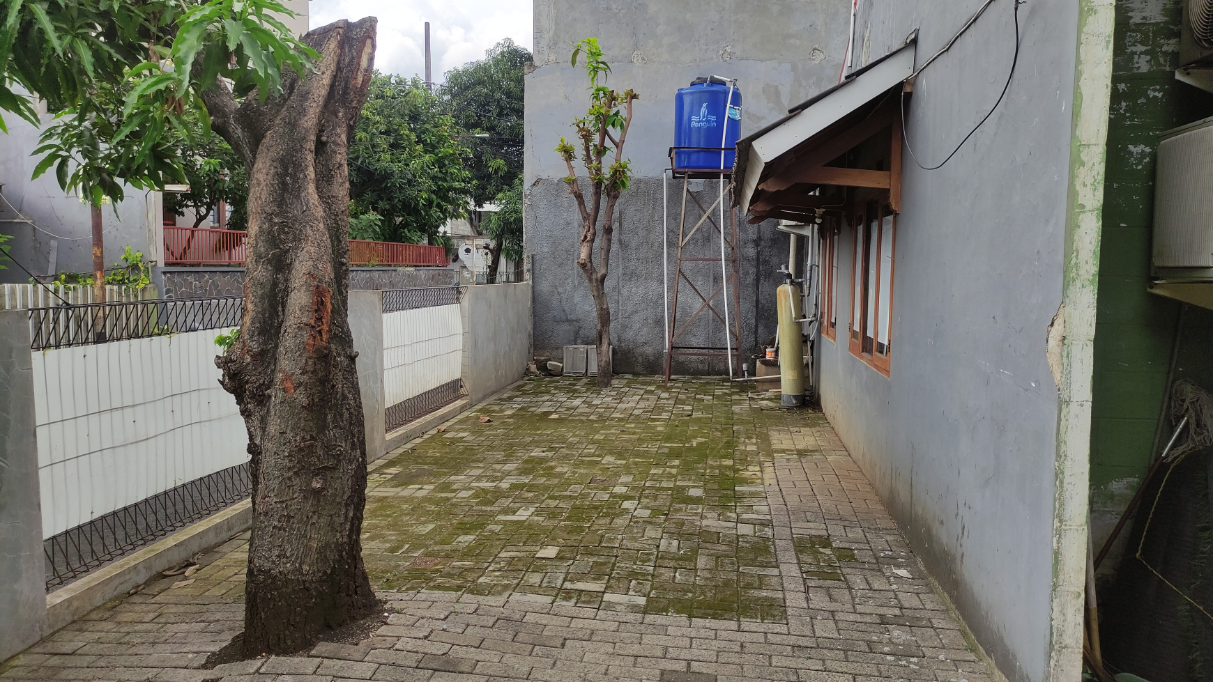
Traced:
<path fill-rule="evenodd" d="M 1158 142 L 1154 275 L 1213 281 L 1213 118 L 1167 131 Z"/>

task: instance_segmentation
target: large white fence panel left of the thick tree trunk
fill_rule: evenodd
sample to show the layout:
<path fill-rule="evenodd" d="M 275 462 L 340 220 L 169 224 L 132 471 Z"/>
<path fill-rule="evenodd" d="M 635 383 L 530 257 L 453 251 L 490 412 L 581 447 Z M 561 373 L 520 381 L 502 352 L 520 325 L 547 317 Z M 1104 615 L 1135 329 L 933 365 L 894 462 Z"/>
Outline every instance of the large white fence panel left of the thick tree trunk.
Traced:
<path fill-rule="evenodd" d="M 226 331 L 33 351 L 44 537 L 247 462 Z"/>

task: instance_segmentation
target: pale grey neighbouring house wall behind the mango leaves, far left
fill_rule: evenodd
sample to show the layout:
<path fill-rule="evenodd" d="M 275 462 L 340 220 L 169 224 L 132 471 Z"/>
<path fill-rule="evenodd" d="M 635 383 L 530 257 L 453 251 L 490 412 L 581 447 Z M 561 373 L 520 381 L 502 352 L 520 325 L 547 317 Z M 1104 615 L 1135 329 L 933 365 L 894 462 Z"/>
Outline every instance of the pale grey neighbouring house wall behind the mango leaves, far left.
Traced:
<path fill-rule="evenodd" d="M 42 130 L 52 120 L 42 115 Z M 0 234 L 11 235 L 11 256 L 35 275 L 92 273 L 92 220 L 87 204 L 67 196 L 51 170 L 32 180 L 39 156 L 41 130 L 17 116 L 6 116 L 8 133 L 0 133 Z M 10 206 L 11 205 L 11 206 Z M 102 207 L 106 265 L 113 265 L 123 247 L 142 251 L 147 260 L 160 260 L 160 194 L 127 188 L 126 199 Z M 29 224 L 25 219 L 32 220 Z M 34 227 L 36 225 L 36 228 Z M 39 229 L 40 228 L 40 229 Z M 0 263 L 5 264 L 5 263 Z M 0 270 L 0 282 L 27 282 L 29 275 L 12 263 Z"/>

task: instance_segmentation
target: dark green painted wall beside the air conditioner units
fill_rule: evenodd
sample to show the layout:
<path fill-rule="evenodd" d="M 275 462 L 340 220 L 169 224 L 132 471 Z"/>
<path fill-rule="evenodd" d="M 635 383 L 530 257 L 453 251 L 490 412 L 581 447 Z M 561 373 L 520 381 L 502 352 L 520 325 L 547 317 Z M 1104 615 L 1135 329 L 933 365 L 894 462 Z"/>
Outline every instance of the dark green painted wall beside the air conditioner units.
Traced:
<path fill-rule="evenodd" d="M 1146 292 L 1158 133 L 1213 115 L 1213 96 L 1175 80 L 1180 10 L 1116 2 L 1090 434 L 1097 548 L 1150 460 L 1179 311 Z"/>

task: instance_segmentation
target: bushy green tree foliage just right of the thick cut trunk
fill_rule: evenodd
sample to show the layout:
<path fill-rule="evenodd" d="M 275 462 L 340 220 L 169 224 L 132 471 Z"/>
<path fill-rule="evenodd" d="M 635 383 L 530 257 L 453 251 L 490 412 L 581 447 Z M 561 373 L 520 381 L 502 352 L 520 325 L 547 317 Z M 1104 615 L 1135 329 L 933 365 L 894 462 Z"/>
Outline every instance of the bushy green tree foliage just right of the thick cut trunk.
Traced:
<path fill-rule="evenodd" d="M 472 189 L 455 121 L 420 79 L 376 73 L 349 145 L 351 214 L 359 239 L 437 241 Z"/>

